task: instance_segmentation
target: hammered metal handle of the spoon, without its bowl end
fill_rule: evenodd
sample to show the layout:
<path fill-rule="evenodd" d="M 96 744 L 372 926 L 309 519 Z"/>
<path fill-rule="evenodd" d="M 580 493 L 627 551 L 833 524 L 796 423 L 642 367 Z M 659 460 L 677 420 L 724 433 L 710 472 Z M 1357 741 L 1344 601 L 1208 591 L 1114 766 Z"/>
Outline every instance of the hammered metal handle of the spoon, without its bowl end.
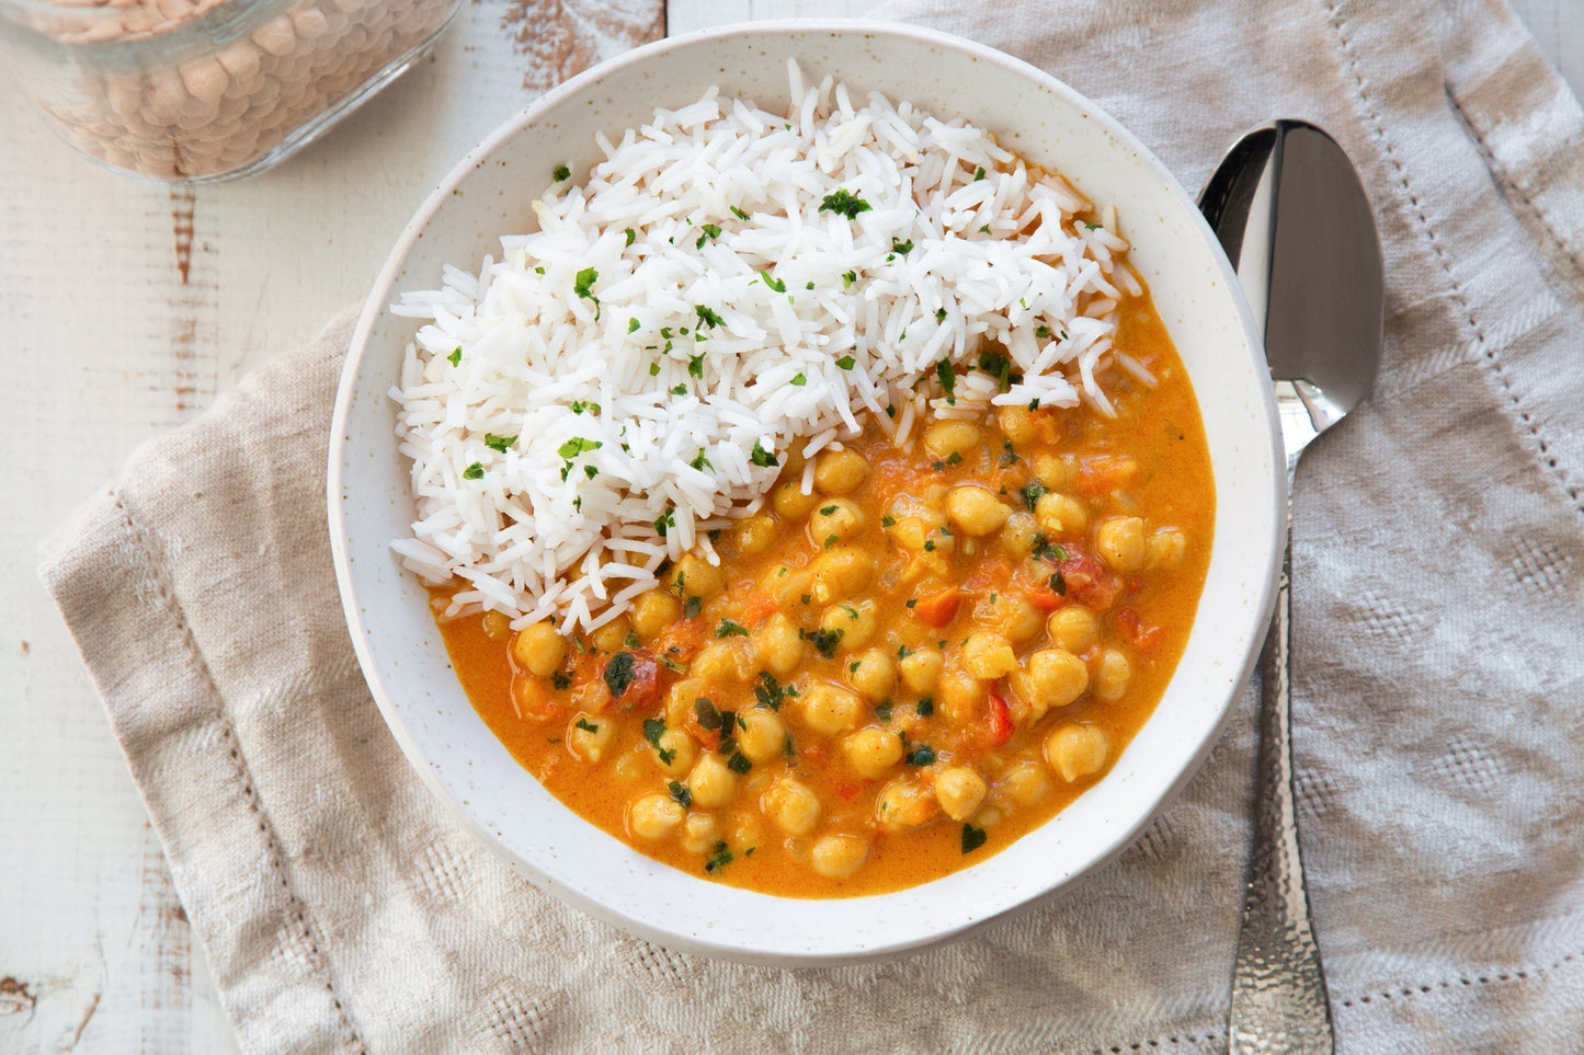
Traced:
<path fill-rule="evenodd" d="M 1248 860 L 1243 924 L 1237 933 L 1228 1050 L 1334 1050 L 1331 1004 L 1319 947 L 1308 922 L 1304 862 L 1293 805 L 1289 686 L 1293 629 L 1293 463 L 1288 463 L 1288 543 L 1275 618 L 1259 654 L 1259 749 L 1255 844 Z"/>

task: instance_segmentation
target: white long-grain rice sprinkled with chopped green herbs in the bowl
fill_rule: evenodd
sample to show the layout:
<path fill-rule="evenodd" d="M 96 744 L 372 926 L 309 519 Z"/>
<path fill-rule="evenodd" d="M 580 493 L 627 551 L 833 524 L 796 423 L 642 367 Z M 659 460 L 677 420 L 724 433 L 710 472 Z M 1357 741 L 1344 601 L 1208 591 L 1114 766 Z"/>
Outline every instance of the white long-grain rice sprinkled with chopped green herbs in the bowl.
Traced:
<path fill-rule="evenodd" d="M 1140 290 L 1115 211 L 1080 222 L 1071 185 L 960 120 L 790 78 L 787 116 L 711 90 L 596 136 L 607 160 L 532 203 L 539 231 L 393 306 L 428 320 L 391 391 L 418 505 L 393 548 L 461 580 L 451 615 L 600 626 L 664 561 L 713 559 L 795 442 L 866 415 L 906 444 L 985 404 L 1109 412 L 1096 377 Z"/>

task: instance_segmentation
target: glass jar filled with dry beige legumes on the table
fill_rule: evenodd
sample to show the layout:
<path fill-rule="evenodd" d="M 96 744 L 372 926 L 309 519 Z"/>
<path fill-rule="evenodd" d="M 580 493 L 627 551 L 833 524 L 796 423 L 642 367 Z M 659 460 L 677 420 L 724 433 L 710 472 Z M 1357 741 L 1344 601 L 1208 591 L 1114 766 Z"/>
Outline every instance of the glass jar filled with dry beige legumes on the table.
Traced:
<path fill-rule="evenodd" d="M 263 171 L 425 55 L 461 0 L 0 0 L 17 87 L 162 182 Z"/>

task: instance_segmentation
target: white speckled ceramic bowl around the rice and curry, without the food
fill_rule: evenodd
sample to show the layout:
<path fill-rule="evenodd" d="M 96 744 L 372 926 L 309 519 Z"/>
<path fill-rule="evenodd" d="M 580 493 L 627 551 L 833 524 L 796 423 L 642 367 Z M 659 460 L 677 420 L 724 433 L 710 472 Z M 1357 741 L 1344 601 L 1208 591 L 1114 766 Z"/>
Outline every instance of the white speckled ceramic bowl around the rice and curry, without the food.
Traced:
<path fill-rule="evenodd" d="M 767 108 L 789 97 L 786 60 L 809 81 L 908 98 L 993 130 L 1099 204 L 1115 204 L 1133 265 L 1188 366 L 1217 488 L 1215 545 L 1186 653 L 1155 716 L 1110 775 L 1000 854 L 911 890 L 782 900 L 661 865 L 581 821 L 523 770 L 458 687 L 426 594 L 391 556 L 412 499 L 396 453 L 398 377 L 412 320 L 386 306 L 434 288 L 531 230 L 531 190 L 559 162 L 599 160 L 656 106 L 711 84 Z M 1264 635 L 1280 556 L 1280 444 L 1264 358 L 1236 279 L 1177 181 L 1098 106 L 1049 74 L 942 33 L 873 22 L 768 22 L 638 48 L 583 73 L 485 139 L 436 187 L 391 250 L 363 309 L 336 401 L 329 526 L 352 640 L 391 732 L 423 779 L 486 843 L 556 897 L 676 949 L 759 963 L 830 963 L 965 935 L 1071 884 L 1128 846 L 1199 768 Z"/>

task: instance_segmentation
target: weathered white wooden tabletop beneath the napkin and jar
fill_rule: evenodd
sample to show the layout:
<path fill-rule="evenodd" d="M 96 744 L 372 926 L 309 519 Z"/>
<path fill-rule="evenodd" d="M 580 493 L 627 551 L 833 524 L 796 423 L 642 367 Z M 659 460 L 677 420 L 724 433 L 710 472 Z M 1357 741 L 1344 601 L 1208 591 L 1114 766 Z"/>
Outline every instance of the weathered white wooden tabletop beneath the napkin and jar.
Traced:
<path fill-rule="evenodd" d="M 0 518 L 0 1052 L 234 1050 L 158 840 L 35 578 L 38 540 L 138 442 L 361 299 L 426 189 L 570 63 L 665 30 L 871 6 L 662 5 L 472 0 L 432 62 L 326 141 L 196 192 L 87 165 L 0 84 L 0 356 L 21 393 L 0 466 L 13 496 Z M 1584 89 L 1584 3 L 1514 8 Z"/>

